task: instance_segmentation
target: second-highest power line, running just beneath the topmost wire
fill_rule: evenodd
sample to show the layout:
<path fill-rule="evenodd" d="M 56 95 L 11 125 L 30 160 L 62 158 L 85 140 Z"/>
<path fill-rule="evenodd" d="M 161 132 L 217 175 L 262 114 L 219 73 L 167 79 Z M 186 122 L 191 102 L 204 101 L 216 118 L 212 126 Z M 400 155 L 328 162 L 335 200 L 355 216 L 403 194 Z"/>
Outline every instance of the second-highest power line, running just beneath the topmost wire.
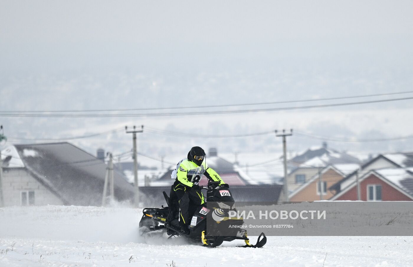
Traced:
<path fill-rule="evenodd" d="M 194 115 L 216 115 L 216 114 L 234 114 L 234 113 L 248 113 L 248 112 L 264 112 L 264 111 L 285 111 L 285 110 L 297 110 L 297 109 L 314 109 L 314 108 L 326 108 L 333 106 L 351 106 L 360 104 L 372 104 L 382 102 L 392 102 L 400 100 L 409 100 L 413 97 L 402 97 L 393 99 L 382 99 L 372 101 L 361 102 L 347 102 L 338 104 L 321 104 L 313 106 L 296 106 L 296 107 L 283 107 L 283 108 L 268 108 L 268 109 L 242 109 L 234 111 L 199 111 L 199 112 L 185 112 L 185 113 L 130 113 L 130 114 L 10 114 L 0 113 L 0 117 L 40 117 L 40 118 L 120 118 L 120 117 L 157 117 L 157 116 L 194 116 Z"/>

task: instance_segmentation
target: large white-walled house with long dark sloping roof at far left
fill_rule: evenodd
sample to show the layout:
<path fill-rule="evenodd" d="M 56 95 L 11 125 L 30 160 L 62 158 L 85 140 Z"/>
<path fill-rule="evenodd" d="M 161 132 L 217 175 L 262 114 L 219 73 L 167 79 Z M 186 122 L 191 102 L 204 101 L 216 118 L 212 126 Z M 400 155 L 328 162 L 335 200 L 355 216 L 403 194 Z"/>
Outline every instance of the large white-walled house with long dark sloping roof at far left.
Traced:
<path fill-rule="evenodd" d="M 68 143 L 18 144 L 2 150 L 5 206 L 100 206 L 107 165 Z M 133 198 L 133 186 L 114 172 L 118 201 Z"/>

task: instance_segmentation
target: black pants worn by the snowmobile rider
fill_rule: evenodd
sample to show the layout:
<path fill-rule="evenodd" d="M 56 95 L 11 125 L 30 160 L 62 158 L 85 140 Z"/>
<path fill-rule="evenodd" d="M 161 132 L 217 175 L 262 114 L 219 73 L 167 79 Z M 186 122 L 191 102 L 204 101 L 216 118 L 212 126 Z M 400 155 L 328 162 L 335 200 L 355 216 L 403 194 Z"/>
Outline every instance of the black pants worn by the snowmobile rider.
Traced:
<path fill-rule="evenodd" d="M 171 187 L 169 195 L 172 212 L 178 212 L 178 220 L 181 226 L 189 225 L 190 215 L 193 215 L 195 208 L 204 203 L 204 195 L 201 190 L 191 189 L 176 181 Z M 176 204 L 178 202 L 178 205 Z M 171 209 L 172 208 L 172 209 Z M 192 213 L 190 214 L 190 211 Z"/>

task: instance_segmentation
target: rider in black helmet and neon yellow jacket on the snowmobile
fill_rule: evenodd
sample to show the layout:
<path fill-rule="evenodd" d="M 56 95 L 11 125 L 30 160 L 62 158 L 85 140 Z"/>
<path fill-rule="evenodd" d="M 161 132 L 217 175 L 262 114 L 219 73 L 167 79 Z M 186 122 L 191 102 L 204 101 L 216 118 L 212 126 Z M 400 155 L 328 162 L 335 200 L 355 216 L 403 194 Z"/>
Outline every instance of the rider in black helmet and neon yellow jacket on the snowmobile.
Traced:
<path fill-rule="evenodd" d="M 205 201 L 198 185 L 202 175 L 205 175 L 209 180 L 220 182 L 221 188 L 229 187 L 216 171 L 208 167 L 205 157 L 204 149 L 194 146 L 189 151 L 188 157 L 181 160 L 171 174 L 171 178 L 175 179 L 175 183 L 171 187 L 170 200 L 175 202 L 174 206 L 179 205 L 178 220 L 181 232 L 184 234 L 189 234 L 189 204 L 202 205 Z M 176 202 L 178 202 L 178 205 L 176 205 Z M 173 213 L 173 209 L 170 212 Z"/>

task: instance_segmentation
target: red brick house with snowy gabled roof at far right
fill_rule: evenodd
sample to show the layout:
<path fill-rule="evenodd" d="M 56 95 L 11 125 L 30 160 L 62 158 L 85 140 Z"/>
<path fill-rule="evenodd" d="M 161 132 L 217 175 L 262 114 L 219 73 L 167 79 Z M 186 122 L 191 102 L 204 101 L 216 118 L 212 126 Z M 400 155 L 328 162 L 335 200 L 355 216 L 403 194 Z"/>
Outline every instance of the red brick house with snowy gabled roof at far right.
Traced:
<path fill-rule="evenodd" d="M 370 170 L 359 178 L 361 201 L 413 201 L 413 168 Z M 356 181 L 330 200 L 356 201 Z"/>

